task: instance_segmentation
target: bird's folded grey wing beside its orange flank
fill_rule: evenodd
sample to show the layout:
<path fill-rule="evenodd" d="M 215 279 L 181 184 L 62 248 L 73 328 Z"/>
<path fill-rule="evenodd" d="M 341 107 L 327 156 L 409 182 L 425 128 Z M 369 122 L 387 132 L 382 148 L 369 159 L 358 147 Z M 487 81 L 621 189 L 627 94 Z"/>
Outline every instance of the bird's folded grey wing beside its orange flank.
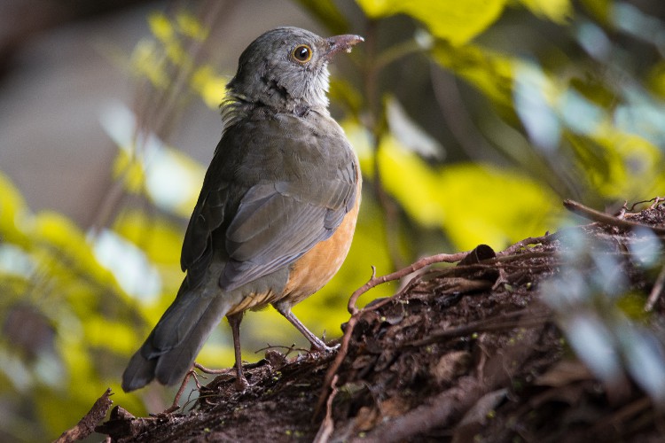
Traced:
<path fill-rule="evenodd" d="M 254 186 L 226 232 L 231 260 L 220 284 L 237 288 L 293 263 L 331 237 L 355 201 L 356 183 L 341 175 L 306 192 L 286 182 Z"/>

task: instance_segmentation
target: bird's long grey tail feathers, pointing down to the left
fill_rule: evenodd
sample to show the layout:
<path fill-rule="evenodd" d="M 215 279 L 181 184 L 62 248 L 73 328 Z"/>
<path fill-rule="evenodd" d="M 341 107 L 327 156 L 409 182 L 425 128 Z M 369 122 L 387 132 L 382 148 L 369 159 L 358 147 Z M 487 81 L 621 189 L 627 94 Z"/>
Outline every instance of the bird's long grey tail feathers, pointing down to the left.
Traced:
<path fill-rule="evenodd" d="M 231 309 L 225 294 L 204 296 L 200 288 L 190 290 L 187 279 L 176 299 L 122 374 L 122 390 L 141 388 L 154 378 L 162 385 L 182 380 L 210 332 Z"/>

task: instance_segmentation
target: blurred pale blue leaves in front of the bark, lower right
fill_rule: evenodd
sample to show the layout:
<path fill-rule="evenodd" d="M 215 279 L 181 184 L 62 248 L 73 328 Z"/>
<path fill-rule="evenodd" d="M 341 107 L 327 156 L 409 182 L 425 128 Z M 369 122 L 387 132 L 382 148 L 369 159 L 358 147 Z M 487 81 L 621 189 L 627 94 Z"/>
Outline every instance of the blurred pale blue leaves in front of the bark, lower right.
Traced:
<path fill-rule="evenodd" d="M 611 245 L 591 241 L 571 229 L 562 237 L 563 266 L 544 282 L 544 301 L 559 317 L 567 342 L 603 383 L 608 396 L 620 395 L 628 379 L 665 405 L 665 334 L 661 317 L 645 312 L 645 294 L 630 291 L 630 276 L 617 272 L 622 257 Z M 657 274 L 665 250 L 651 229 L 633 229 L 630 260 Z"/>

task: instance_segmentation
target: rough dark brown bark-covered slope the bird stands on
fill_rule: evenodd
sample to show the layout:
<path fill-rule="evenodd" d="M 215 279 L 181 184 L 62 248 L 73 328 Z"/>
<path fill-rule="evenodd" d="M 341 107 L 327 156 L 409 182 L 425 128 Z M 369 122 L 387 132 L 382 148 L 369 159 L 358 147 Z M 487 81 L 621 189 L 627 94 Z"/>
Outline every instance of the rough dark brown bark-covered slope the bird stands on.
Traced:
<path fill-rule="evenodd" d="M 272 350 L 246 369 L 245 392 L 218 377 L 184 413 L 137 418 L 119 406 L 97 431 L 113 441 L 656 441 L 665 421 L 651 400 L 630 381 L 617 391 L 595 379 L 541 293 L 561 272 L 566 237 L 581 235 L 614 256 L 646 303 L 658 279 L 627 253 L 636 224 L 655 227 L 662 263 L 664 206 L 501 253 L 442 256 L 454 264 L 421 260 L 395 273 L 409 276 L 394 297 L 352 315 L 338 354 Z M 646 324 L 663 324 L 665 301 L 653 301 Z"/>

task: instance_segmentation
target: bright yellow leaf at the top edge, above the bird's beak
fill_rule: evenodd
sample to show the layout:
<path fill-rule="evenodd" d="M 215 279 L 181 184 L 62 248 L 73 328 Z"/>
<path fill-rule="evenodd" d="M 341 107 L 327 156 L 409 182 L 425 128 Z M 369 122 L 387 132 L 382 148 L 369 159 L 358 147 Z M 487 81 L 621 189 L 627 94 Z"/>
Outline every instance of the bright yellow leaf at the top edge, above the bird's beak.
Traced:
<path fill-rule="evenodd" d="M 398 13 L 419 19 L 437 37 L 452 45 L 467 43 L 481 34 L 503 12 L 505 0 L 356 0 L 372 18 Z"/>

